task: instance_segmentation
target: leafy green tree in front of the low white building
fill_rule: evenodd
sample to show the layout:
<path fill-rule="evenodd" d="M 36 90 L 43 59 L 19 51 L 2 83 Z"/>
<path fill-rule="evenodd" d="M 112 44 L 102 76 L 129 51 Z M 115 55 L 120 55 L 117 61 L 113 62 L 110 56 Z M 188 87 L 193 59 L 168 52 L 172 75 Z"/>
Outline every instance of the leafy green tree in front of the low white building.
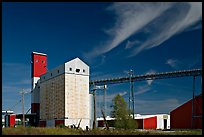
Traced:
<path fill-rule="evenodd" d="M 114 126 L 116 128 L 134 129 L 137 123 L 129 116 L 127 103 L 121 95 L 116 95 L 113 99 L 113 111 L 111 116 L 115 118 Z"/>

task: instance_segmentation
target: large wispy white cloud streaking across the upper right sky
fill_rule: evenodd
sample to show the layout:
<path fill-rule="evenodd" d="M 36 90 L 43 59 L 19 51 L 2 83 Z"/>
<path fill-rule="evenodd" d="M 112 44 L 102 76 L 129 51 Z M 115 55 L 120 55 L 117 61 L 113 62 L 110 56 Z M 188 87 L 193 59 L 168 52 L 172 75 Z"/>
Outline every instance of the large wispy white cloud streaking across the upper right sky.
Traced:
<path fill-rule="evenodd" d="M 125 47 L 131 49 L 129 57 L 132 57 L 161 45 L 202 20 L 201 2 L 117 2 L 108 7 L 108 11 L 116 15 L 113 27 L 106 30 L 110 39 L 87 53 L 89 57 L 107 53 L 130 36 L 143 32 L 146 39 L 142 44 L 135 46 L 129 43 Z"/>

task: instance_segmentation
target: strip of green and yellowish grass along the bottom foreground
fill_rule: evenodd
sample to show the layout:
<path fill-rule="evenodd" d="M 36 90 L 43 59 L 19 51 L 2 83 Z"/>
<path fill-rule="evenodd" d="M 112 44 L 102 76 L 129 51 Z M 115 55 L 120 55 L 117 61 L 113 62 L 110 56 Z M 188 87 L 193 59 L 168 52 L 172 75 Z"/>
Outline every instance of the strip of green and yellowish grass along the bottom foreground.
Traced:
<path fill-rule="evenodd" d="M 83 131 L 70 128 L 39 128 L 39 127 L 16 127 L 2 128 L 2 135 L 202 135 L 202 129 L 195 130 L 104 130 L 95 129 Z"/>

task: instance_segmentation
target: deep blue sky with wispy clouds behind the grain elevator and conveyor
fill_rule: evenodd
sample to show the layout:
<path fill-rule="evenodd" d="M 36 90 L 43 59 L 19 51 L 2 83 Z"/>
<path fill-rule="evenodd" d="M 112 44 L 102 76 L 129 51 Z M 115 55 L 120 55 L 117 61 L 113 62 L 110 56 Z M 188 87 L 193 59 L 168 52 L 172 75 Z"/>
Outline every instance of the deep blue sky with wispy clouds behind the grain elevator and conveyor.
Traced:
<path fill-rule="evenodd" d="M 48 55 L 48 70 L 75 57 L 90 79 L 202 68 L 202 3 L 3 2 L 2 109 L 31 90 L 31 52 Z M 135 113 L 170 113 L 192 97 L 192 77 L 134 83 Z M 129 83 L 108 85 L 106 108 Z M 97 92 L 97 115 L 103 99 Z M 196 77 L 196 95 L 201 77 Z M 25 110 L 31 96 L 25 95 Z M 21 103 L 13 108 L 21 113 Z"/>

